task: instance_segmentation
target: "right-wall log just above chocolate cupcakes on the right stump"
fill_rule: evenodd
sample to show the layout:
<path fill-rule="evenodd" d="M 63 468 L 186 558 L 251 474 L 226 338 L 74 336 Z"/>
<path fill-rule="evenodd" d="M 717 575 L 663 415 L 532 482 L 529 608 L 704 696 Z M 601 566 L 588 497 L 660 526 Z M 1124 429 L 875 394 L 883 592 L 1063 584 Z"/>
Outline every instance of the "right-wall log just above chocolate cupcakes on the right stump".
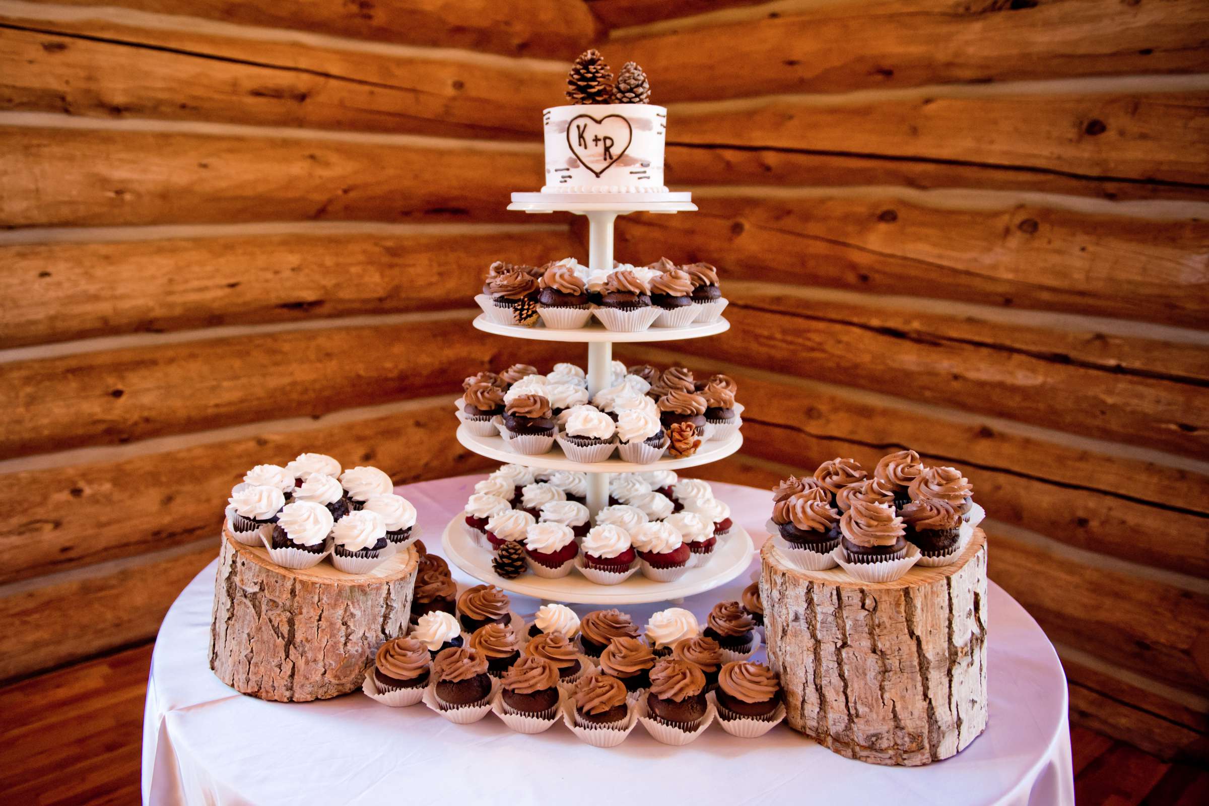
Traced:
<path fill-rule="evenodd" d="M 663 352 L 647 356 L 658 366 L 676 360 Z M 707 360 L 687 365 L 716 371 Z M 1023 436 L 978 418 L 955 421 L 741 371 L 734 377 L 747 407 L 747 454 L 809 474 L 837 456 L 872 468 L 909 447 L 929 464 L 960 468 L 997 521 L 1080 549 L 1209 576 L 1209 477 L 1202 474 Z"/>

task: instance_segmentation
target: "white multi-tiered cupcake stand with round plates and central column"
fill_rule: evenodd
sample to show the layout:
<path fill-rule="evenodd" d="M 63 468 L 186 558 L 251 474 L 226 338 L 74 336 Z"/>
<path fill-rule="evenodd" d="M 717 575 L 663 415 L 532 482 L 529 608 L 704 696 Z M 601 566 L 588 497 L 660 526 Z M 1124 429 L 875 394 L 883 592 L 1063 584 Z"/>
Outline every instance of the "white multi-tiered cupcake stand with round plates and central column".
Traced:
<path fill-rule="evenodd" d="M 612 268 L 613 266 L 613 222 L 618 215 L 627 213 L 682 213 L 695 210 L 689 193 L 513 193 L 509 210 L 525 213 L 574 213 L 588 218 L 589 266 L 591 268 Z M 617 332 L 606 330 L 600 323 L 592 321 L 578 330 L 548 330 L 545 327 L 522 327 L 519 325 L 501 325 L 480 314 L 474 326 L 497 336 L 528 338 L 536 341 L 557 341 L 588 344 L 588 393 L 595 395 L 612 384 L 611 365 L 613 361 L 613 342 L 660 342 L 700 338 L 727 331 L 730 324 L 719 319 L 708 324 L 694 324 L 688 327 L 650 327 L 640 332 Z M 742 434 L 721 441 L 708 440 L 690 457 L 672 459 L 664 457 L 653 464 L 635 464 L 617 457 L 606 462 L 584 464 L 566 458 L 555 446 L 549 453 L 540 456 L 522 456 L 509 450 L 499 436 L 475 436 L 464 425 L 457 430 L 458 441 L 485 457 L 498 462 L 511 462 L 528 468 L 549 470 L 575 470 L 588 474 L 588 509 L 595 516 L 608 505 L 608 482 L 614 472 L 637 472 L 650 470 L 682 470 L 723 459 L 736 452 L 744 443 Z M 702 568 L 692 568 L 675 582 L 655 582 L 641 574 L 635 574 L 620 585 L 596 585 L 578 573 L 562 579 L 543 579 L 532 574 L 522 574 L 511 580 L 498 576 L 491 568 L 491 555 L 467 534 L 462 516 L 455 517 L 445 528 L 441 540 L 445 555 L 458 568 L 475 579 L 502 587 L 511 593 L 533 596 L 550 602 L 578 604 L 637 604 L 681 599 L 686 596 L 701 593 L 724 585 L 739 576 L 751 563 L 754 551 L 751 537 L 737 523 L 730 535 L 719 541 L 715 556 Z"/>

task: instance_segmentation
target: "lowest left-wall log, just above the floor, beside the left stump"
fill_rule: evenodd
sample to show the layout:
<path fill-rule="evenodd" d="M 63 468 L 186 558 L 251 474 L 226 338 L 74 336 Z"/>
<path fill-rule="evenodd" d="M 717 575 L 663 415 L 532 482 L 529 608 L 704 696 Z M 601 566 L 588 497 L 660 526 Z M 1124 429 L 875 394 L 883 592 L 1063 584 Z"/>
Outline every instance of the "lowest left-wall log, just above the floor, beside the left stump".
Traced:
<path fill-rule="evenodd" d="M 0 680 L 155 638 L 168 607 L 219 553 L 202 540 L 144 563 L 116 563 L 91 576 L 0 591 Z"/>

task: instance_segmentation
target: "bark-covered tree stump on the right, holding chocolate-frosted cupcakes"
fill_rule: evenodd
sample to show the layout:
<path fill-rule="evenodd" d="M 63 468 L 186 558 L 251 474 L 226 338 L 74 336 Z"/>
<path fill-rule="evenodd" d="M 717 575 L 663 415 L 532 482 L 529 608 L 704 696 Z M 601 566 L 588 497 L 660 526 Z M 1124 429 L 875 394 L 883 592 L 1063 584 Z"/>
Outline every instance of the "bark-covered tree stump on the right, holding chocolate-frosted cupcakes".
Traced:
<path fill-rule="evenodd" d="M 786 721 L 860 761 L 947 759 L 987 727 L 987 535 L 893 582 L 803 572 L 760 551 L 768 656 Z"/>

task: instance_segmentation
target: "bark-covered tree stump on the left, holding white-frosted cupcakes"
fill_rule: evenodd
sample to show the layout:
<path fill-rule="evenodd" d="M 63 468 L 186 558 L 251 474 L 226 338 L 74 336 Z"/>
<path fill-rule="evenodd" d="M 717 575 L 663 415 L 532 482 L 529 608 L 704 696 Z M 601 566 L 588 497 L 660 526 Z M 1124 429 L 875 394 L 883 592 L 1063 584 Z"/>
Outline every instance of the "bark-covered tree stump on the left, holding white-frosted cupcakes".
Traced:
<path fill-rule="evenodd" d="M 210 668 L 261 700 L 306 702 L 355 691 L 377 648 L 406 630 L 417 566 L 409 546 L 369 574 L 345 574 L 328 562 L 293 570 L 224 530 Z"/>

